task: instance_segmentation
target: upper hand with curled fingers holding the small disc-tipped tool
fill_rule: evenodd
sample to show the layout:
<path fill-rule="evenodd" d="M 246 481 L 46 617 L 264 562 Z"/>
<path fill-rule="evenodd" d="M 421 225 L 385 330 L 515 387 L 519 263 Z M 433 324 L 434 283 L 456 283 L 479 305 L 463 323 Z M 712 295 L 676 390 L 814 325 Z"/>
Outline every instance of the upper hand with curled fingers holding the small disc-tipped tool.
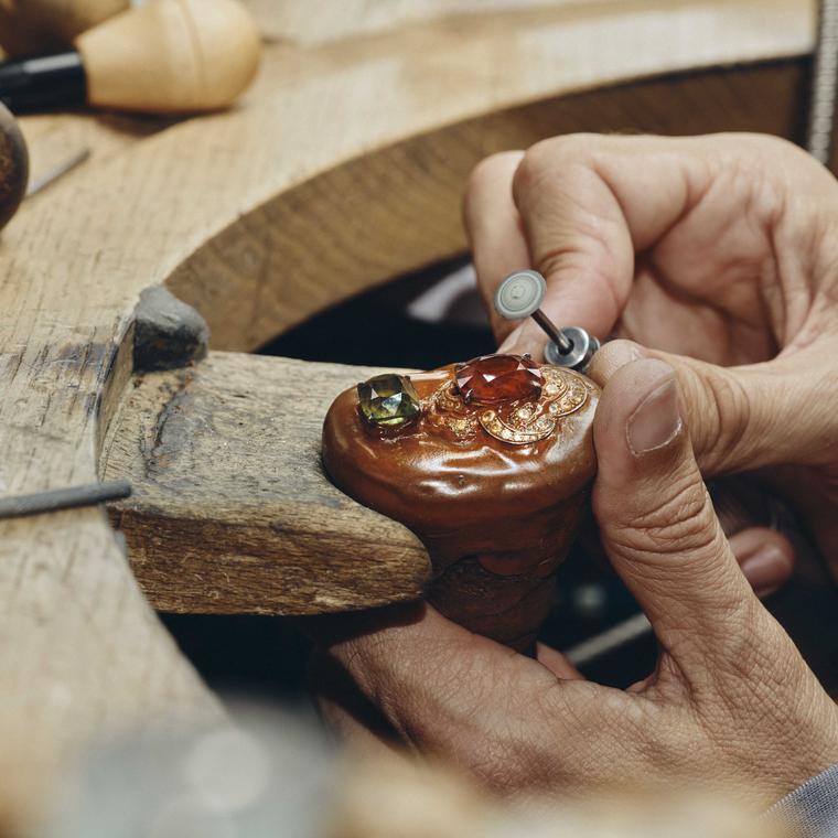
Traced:
<path fill-rule="evenodd" d="M 666 358 L 702 472 L 767 469 L 838 557 L 838 184 L 827 170 L 769 137 L 561 137 L 484 161 L 465 221 L 487 301 L 533 267 L 558 325 L 637 342 L 598 353 L 598 383 L 632 358 Z M 493 318 L 502 350 L 540 355 L 535 323 Z"/>

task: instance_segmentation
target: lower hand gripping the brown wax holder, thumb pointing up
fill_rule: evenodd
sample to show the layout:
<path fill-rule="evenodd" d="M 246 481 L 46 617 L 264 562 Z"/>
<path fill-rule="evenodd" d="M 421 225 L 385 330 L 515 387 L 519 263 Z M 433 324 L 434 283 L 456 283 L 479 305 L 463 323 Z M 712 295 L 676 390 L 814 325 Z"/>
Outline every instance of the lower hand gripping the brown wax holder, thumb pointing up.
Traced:
<path fill-rule="evenodd" d="M 689 782 L 759 806 L 838 762 L 838 709 L 739 571 L 681 404 L 672 367 L 635 361 L 609 380 L 593 427 L 593 511 L 653 624 L 655 672 L 602 687 L 552 649 L 534 660 L 430 608 L 329 643 L 407 742 L 508 794 Z"/>

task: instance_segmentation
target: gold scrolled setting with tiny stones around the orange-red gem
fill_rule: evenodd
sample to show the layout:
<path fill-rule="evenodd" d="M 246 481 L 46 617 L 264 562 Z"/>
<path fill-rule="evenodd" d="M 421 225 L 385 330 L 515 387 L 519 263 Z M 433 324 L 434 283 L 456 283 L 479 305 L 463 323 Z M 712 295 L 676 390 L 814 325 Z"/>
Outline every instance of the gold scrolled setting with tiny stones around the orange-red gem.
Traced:
<path fill-rule="evenodd" d="M 588 385 L 568 369 L 545 366 L 541 396 L 531 401 L 509 401 L 492 408 L 466 405 L 453 380 L 439 387 L 426 401 L 427 421 L 466 442 L 482 429 L 512 445 L 540 442 L 556 432 L 559 420 L 588 400 Z"/>

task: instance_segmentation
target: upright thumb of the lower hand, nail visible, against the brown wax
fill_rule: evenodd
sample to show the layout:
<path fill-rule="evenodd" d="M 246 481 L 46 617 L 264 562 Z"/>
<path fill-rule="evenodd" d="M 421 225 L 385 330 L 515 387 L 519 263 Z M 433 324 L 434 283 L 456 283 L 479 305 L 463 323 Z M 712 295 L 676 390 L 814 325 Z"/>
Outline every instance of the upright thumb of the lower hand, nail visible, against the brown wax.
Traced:
<path fill-rule="evenodd" d="M 593 432 L 593 509 L 614 570 L 665 648 L 703 656 L 756 600 L 701 480 L 673 367 L 652 358 L 621 367 Z"/>

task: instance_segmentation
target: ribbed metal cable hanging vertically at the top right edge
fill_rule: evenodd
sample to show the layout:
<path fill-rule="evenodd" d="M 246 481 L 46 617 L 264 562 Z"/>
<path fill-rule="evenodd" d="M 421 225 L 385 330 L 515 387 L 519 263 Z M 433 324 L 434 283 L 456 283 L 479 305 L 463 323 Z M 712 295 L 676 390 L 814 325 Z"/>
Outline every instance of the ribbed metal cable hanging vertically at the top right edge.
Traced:
<path fill-rule="evenodd" d="M 832 151 L 836 90 L 838 90 L 838 0 L 821 0 L 806 148 L 824 165 L 829 163 Z"/>

